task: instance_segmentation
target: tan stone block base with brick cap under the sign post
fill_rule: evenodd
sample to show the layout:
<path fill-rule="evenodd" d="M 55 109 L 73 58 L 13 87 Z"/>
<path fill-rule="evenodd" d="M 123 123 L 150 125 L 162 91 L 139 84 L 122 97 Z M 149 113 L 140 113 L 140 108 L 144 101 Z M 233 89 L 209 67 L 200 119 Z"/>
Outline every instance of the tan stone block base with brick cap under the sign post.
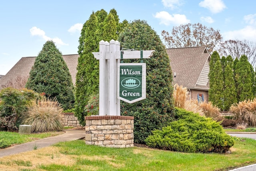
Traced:
<path fill-rule="evenodd" d="M 86 116 L 85 143 L 104 147 L 134 146 L 133 116 Z"/>

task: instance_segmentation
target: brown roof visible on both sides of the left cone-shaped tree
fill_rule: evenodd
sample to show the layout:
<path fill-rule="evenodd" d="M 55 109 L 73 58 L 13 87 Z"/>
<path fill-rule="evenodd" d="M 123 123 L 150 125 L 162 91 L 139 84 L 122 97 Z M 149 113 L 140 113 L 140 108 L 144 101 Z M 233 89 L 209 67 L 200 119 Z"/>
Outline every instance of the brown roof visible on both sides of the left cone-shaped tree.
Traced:
<path fill-rule="evenodd" d="M 76 66 L 78 64 L 78 54 L 74 55 L 62 55 L 62 58 L 66 62 L 68 66 L 68 70 L 72 77 L 72 82 L 75 84 L 76 82 Z M 32 66 L 34 65 L 36 57 L 22 57 L 13 67 L 12 69 L 0 79 L 0 89 L 2 89 L 2 85 L 5 85 L 10 80 L 16 80 L 17 77 L 28 77 Z"/>

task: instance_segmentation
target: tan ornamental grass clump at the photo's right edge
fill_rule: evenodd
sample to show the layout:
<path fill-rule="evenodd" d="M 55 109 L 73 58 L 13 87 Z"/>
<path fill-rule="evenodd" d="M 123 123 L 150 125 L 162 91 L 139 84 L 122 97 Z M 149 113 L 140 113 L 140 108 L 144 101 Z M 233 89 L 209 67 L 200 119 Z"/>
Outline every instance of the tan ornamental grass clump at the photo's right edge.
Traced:
<path fill-rule="evenodd" d="M 230 111 L 234 113 L 233 119 L 240 119 L 249 126 L 256 126 L 256 98 L 233 104 Z"/>

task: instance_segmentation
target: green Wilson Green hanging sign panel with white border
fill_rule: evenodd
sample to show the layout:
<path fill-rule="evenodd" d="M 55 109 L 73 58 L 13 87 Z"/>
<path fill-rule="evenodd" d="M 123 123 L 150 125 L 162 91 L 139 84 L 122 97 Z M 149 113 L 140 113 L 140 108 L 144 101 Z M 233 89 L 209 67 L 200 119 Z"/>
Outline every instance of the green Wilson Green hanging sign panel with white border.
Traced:
<path fill-rule="evenodd" d="M 146 64 L 118 64 L 118 98 L 128 103 L 145 99 Z"/>

